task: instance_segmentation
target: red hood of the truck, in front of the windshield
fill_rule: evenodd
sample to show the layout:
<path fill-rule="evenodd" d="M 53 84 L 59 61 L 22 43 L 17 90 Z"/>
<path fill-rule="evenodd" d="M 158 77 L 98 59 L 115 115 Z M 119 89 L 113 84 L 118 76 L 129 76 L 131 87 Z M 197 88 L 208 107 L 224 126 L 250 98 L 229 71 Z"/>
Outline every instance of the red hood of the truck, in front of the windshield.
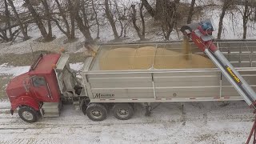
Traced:
<path fill-rule="evenodd" d="M 8 95 L 8 98 L 10 99 L 10 102 L 12 102 L 16 97 L 21 95 L 27 95 L 26 89 L 24 87 L 24 81 L 27 81 L 28 74 L 21 74 L 8 83 L 6 87 L 6 93 Z"/>

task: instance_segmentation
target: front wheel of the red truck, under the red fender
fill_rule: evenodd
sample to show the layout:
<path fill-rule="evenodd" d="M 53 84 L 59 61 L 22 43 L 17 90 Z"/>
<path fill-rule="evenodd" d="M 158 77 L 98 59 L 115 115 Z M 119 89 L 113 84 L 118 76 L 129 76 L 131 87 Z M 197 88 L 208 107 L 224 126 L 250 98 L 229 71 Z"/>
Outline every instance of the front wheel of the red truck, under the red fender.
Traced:
<path fill-rule="evenodd" d="M 37 122 L 39 117 L 38 111 L 30 106 L 21 106 L 18 110 L 18 115 L 25 122 Z"/>

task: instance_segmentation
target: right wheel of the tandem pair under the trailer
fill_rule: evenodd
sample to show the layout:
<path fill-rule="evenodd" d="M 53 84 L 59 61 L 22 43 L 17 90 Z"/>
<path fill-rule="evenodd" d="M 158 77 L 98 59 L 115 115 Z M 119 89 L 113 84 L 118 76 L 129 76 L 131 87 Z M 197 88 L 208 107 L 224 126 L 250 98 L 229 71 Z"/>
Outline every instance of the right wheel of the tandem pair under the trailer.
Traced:
<path fill-rule="evenodd" d="M 113 113 L 115 118 L 127 120 L 134 115 L 134 108 L 129 103 L 116 103 L 113 107 Z"/>

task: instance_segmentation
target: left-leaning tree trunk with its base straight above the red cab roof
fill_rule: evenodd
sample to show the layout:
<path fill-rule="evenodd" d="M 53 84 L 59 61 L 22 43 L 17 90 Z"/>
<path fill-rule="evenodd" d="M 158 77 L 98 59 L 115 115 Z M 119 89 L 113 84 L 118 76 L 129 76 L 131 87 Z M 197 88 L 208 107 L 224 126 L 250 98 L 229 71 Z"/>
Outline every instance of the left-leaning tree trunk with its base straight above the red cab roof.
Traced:
<path fill-rule="evenodd" d="M 37 24 L 38 29 L 40 30 L 40 32 L 42 34 L 42 37 L 45 40 L 49 40 L 48 34 L 46 32 L 46 28 L 45 28 L 45 26 L 43 26 L 43 23 L 42 23 L 42 18 L 40 18 L 39 14 L 34 10 L 34 7 L 30 3 L 30 0 L 24 0 L 24 1 L 26 2 L 26 6 L 30 10 L 32 17 L 34 18 L 34 22 Z"/>

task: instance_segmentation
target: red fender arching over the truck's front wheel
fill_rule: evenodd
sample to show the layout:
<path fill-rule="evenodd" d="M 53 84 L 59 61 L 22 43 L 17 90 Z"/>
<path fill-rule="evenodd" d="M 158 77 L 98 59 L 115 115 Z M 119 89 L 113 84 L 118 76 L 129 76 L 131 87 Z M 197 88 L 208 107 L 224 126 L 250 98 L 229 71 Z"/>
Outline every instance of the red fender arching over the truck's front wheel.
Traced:
<path fill-rule="evenodd" d="M 39 103 L 29 96 L 21 96 L 11 102 L 11 110 L 16 110 L 18 106 L 30 106 L 34 110 L 39 110 Z"/>

